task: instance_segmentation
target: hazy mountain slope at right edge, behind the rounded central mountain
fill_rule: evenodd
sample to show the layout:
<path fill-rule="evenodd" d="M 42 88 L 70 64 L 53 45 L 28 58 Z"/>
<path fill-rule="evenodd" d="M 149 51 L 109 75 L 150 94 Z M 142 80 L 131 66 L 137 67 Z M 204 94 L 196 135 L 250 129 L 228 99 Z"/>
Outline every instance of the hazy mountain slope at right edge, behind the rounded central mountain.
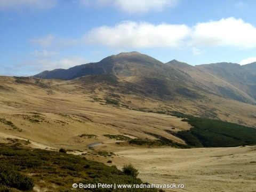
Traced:
<path fill-rule="evenodd" d="M 249 68 L 225 62 L 190 66 L 176 60 L 167 62 L 166 65 L 183 71 L 202 83 L 208 91 L 221 97 L 255 103 L 256 73 Z M 250 68 L 253 69 L 254 65 L 252 63 Z"/>

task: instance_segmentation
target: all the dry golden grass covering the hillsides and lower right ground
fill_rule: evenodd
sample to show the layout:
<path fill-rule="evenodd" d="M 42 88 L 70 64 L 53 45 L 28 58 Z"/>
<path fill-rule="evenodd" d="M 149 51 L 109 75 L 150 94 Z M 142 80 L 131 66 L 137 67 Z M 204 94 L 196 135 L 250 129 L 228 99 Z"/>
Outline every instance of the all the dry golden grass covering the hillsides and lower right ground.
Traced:
<path fill-rule="evenodd" d="M 0 116 L 11 121 L 0 122 L 0 142 L 6 138 L 29 140 L 35 148 L 63 147 L 80 150 L 74 154 L 91 151 L 87 145 L 103 142 L 95 150 L 113 151 L 112 157 L 86 156 L 122 167 L 132 163 L 139 169 L 139 177 L 150 183 L 185 185 L 185 189 L 169 191 L 255 191 L 255 159 L 253 147 L 172 149 L 127 145 L 103 134 L 124 134 L 131 138 L 155 139 L 150 132 L 184 143 L 164 130 L 187 130 L 190 125 L 181 118 L 170 115 L 146 113 L 137 110 L 105 105 L 106 90 L 91 91 L 88 87 L 60 80 L 41 80 L 49 87 L 38 86 L 33 80 L 15 83 L 13 77 L 0 77 Z M 135 109 L 154 111 L 180 111 L 192 115 L 214 116 L 229 122 L 256 126 L 256 106 L 234 100 L 206 97 L 204 100 L 162 101 L 140 95 L 121 95 L 120 101 Z M 129 101 L 129 102 L 128 102 Z M 79 137 L 94 134 L 97 137 Z M 111 164 L 111 165 L 113 165 Z M 167 190 L 166 190 L 167 191 Z"/>

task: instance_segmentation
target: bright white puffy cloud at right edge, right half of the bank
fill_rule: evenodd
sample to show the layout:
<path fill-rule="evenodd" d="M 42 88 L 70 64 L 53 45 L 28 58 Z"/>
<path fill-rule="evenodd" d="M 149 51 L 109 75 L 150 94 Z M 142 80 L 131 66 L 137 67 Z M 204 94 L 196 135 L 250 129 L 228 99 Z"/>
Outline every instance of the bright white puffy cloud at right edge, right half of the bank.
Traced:
<path fill-rule="evenodd" d="M 190 45 L 251 49 L 256 47 L 256 28 L 242 19 L 235 18 L 197 23 L 191 35 Z"/>

